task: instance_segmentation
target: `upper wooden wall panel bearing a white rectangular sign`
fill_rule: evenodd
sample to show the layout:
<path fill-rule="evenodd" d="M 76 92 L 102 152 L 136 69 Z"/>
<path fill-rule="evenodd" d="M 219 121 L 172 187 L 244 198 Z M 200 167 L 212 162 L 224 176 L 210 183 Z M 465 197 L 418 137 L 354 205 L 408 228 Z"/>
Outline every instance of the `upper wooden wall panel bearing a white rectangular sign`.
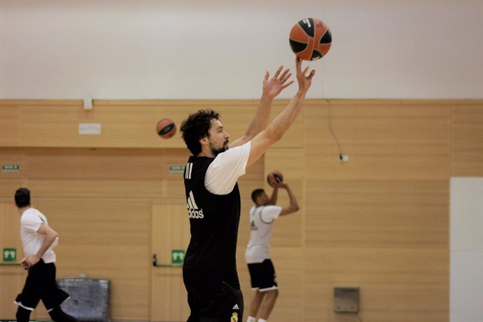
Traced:
<path fill-rule="evenodd" d="M 98 106 L 84 110 L 81 104 L 22 106 L 24 146 L 137 147 L 160 138 L 155 124 L 160 116 L 153 106 Z M 52 117 L 55 116 L 55 117 Z M 101 124 L 101 134 L 79 134 L 79 123 Z M 59 135 L 62 134 L 62 135 Z M 151 140 L 149 140 L 151 138 Z"/>

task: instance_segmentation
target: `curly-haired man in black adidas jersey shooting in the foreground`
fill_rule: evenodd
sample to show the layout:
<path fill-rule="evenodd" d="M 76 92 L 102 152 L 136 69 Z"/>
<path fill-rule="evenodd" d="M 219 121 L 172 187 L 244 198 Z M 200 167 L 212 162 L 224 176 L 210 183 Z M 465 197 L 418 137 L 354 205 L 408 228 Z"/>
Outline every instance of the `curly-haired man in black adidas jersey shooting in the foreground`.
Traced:
<path fill-rule="evenodd" d="M 183 281 L 191 313 L 188 322 L 241 322 L 243 295 L 237 274 L 237 236 L 240 195 L 237 179 L 279 141 L 302 109 L 315 71 L 296 59 L 299 88 L 281 113 L 268 124 L 273 99 L 292 80 L 281 66 L 273 78 L 265 73 L 255 118 L 243 137 L 230 144 L 220 116 L 200 110 L 181 124 L 186 146 L 193 154 L 184 183 L 191 239 L 183 264 Z"/>

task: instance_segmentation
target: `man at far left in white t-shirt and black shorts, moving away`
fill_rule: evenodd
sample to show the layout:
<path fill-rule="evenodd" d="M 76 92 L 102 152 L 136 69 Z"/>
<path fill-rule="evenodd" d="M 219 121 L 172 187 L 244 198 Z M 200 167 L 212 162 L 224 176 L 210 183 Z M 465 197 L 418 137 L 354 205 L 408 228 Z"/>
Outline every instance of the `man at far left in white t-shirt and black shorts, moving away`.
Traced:
<path fill-rule="evenodd" d="M 55 281 L 55 253 L 58 234 L 50 228 L 47 218 L 31 207 L 30 190 L 19 188 L 15 191 L 15 205 L 20 213 L 20 237 L 25 257 L 20 261 L 27 269 L 25 286 L 17 298 L 17 321 L 28 322 L 31 311 L 42 300 L 53 321 L 71 322 L 76 318 L 62 311 L 60 304 L 69 298 Z"/>

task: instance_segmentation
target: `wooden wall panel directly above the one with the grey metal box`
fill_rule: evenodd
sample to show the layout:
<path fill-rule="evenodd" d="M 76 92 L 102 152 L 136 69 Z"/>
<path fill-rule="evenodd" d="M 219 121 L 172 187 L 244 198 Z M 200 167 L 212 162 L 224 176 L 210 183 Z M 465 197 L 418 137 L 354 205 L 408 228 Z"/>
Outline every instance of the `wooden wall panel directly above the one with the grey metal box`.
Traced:
<path fill-rule="evenodd" d="M 308 247 L 448 249 L 448 181 L 306 184 Z"/>

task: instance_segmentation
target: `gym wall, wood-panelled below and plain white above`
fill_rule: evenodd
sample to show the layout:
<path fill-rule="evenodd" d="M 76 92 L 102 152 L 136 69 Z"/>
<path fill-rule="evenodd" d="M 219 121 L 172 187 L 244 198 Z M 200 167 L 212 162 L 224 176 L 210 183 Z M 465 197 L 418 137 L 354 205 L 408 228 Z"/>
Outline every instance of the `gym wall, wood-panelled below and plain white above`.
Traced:
<path fill-rule="evenodd" d="M 20 165 L 0 174 L 0 248 L 21 249 L 11 196 L 29 186 L 61 235 L 59 276 L 111 279 L 115 320 L 183 321 L 181 269 L 151 255 L 169 262 L 187 243 L 169 166 L 188 154 L 154 124 L 214 107 L 239 136 L 265 70 L 293 69 L 288 31 L 313 16 L 333 45 L 304 63 L 317 71 L 310 100 L 240 180 L 244 214 L 271 169 L 302 206 L 276 223 L 272 319 L 358 321 L 332 312 L 333 286 L 349 285 L 363 321 L 448 321 L 449 178 L 483 176 L 482 11 L 478 0 L 0 1 L 0 162 Z M 242 221 L 247 305 L 248 233 Z M 0 267 L 0 319 L 24 278 Z"/>

